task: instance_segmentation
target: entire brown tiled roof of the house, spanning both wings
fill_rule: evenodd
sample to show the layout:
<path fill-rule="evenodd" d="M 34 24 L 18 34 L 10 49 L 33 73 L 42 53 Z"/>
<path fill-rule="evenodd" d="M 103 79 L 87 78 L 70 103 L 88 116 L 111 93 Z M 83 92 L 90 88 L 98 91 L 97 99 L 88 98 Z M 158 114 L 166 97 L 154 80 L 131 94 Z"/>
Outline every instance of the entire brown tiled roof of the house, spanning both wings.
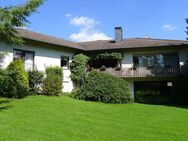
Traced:
<path fill-rule="evenodd" d="M 152 38 L 130 38 L 124 39 L 122 42 L 114 40 L 98 40 L 88 42 L 72 42 L 62 38 L 57 38 L 26 29 L 18 29 L 22 38 L 34 41 L 44 42 L 48 44 L 70 47 L 85 51 L 94 50 L 110 50 L 110 49 L 128 49 L 128 48 L 145 48 L 145 47 L 163 47 L 163 46 L 188 46 L 188 41 L 183 40 L 167 40 L 167 39 L 152 39 Z"/>

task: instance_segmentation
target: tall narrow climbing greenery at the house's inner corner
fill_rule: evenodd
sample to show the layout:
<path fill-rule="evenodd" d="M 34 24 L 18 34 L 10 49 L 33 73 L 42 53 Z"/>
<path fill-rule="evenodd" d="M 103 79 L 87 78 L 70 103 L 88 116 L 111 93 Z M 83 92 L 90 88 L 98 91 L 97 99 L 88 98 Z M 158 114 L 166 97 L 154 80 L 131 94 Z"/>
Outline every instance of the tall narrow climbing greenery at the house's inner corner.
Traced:
<path fill-rule="evenodd" d="M 78 54 L 73 57 L 72 63 L 70 64 L 70 77 L 75 86 L 80 87 L 84 83 L 87 74 L 86 65 L 88 61 L 89 57 L 84 54 Z"/>

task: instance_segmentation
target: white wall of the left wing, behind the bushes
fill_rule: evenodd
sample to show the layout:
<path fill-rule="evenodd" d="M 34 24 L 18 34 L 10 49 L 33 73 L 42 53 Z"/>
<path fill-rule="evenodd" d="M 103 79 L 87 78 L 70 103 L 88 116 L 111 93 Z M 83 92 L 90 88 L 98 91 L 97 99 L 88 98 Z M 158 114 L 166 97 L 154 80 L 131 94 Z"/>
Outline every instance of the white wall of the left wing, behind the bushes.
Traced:
<path fill-rule="evenodd" d="M 63 47 L 62 47 L 63 48 Z M 6 55 L 3 61 L 3 67 L 6 68 L 11 61 L 13 61 L 13 49 L 21 49 L 27 51 L 34 51 L 34 65 L 39 71 L 45 71 L 48 66 L 60 66 L 61 56 L 69 56 L 69 61 L 71 62 L 74 52 L 58 49 L 50 49 L 47 47 L 41 47 L 40 45 L 25 45 L 23 47 L 10 47 L 7 44 L 0 42 L 0 51 L 6 51 Z M 73 89 L 73 84 L 70 79 L 70 70 L 64 69 L 64 80 L 63 80 L 63 91 L 71 92 Z"/>

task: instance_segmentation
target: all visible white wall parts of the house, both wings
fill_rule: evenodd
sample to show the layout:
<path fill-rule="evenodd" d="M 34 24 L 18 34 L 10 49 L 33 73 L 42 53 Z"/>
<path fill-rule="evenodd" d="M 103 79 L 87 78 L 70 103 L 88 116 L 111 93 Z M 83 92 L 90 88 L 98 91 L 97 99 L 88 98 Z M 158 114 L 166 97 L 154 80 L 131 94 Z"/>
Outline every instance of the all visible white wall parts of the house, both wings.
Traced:
<path fill-rule="evenodd" d="M 3 67 L 7 67 L 9 63 L 13 60 L 13 49 L 20 49 L 25 51 L 33 51 L 34 52 L 34 67 L 39 71 L 45 71 L 45 68 L 48 66 L 60 66 L 61 64 L 61 56 L 69 57 L 69 63 L 72 60 L 74 52 L 66 51 L 63 47 L 57 49 L 57 47 L 44 47 L 40 45 L 25 45 L 23 47 L 10 47 L 7 44 L 0 42 L 0 51 L 6 51 L 7 55 L 3 62 Z M 177 50 L 176 50 L 177 51 Z M 163 51 L 162 51 L 163 52 Z M 165 50 L 164 52 L 171 52 L 171 50 Z M 141 53 L 141 52 L 138 52 Z M 147 53 L 147 52 L 143 52 Z M 150 52 L 151 53 L 151 52 Z M 153 52 L 154 53 L 154 52 Z M 160 52 L 158 52 L 160 53 Z M 185 65 L 186 60 L 188 60 L 188 49 L 182 48 L 177 51 L 179 54 L 179 63 L 180 67 Z M 133 67 L 133 52 L 124 53 L 124 57 L 121 61 L 122 68 L 132 68 Z M 63 79 L 63 91 L 71 92 L 73 89 L 73 83 L 70 78 L 70 70 L 68 68 L 63 68 L 64 79 Z M 127 80 L 130 88 L 130 92 L 132 97 L 134 97 L 134 80 Z"/>

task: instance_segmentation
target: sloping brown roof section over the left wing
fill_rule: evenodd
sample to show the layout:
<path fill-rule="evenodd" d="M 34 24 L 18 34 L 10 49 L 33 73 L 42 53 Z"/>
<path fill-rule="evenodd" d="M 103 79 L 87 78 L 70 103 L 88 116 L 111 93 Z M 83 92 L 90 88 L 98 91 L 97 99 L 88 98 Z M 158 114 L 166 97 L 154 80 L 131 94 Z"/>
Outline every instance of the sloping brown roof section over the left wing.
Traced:
<path fill-rule="evenodd" d="M 53 45 L 58 45 L 58 46 L 63 46 L 63 47 L 70 47 L 70 48 L 74 48 L 74 49 L 84 50 L 84 48 L 81 47 L 76 42 L 67 41 L 67 40 L 64 40 L 62 38 L 57 38 L 57 37 L 53 37 L 53 36 L 49 36 L 49 35 L 44 35 L 44 34 L 41 34 L 41 33 L 33 32 L 33 31 L 30 31 L 30 30 L 26 30 L 26 29 L 20 29 L 19 28 L 17 30 L 19 32 L 19 35 L 22 38 L 25 38 L 25 39 L 30 39 L 30 40 L 35 40 L 35 41 L 44 42 L 44 43 L 48 43 L 48 44 L 53 44 Z"/>

